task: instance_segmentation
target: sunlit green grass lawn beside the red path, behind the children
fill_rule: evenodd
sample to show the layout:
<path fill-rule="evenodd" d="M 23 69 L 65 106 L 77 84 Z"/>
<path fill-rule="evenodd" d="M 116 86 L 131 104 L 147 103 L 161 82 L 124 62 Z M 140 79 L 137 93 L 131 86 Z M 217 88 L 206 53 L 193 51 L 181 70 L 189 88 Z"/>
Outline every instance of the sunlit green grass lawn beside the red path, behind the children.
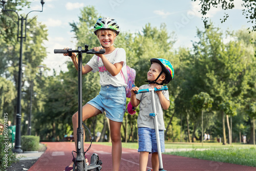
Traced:
<path fill-rule="evenodd" d="M 93 142 L 96 143 L 96 142 Z M 110 145 L 109 142 L 97 142 L 98 144 Z M 122 143 L 124 148 L 138 149 L 138 143 Z M 168 155 L 184 156 L 203 160 L 211 160 L 223 163 L 232 163 L 256 167 L 256 147 L 249 144 L 232 143 L 232 145 L 222 145 L 222 143 L 170 143 L 165 142 L 165 149 L 191 149 L 191 151 L 180 151 L 165 153 Z M 204 148 L 203 151 L 197 151 Z"/>

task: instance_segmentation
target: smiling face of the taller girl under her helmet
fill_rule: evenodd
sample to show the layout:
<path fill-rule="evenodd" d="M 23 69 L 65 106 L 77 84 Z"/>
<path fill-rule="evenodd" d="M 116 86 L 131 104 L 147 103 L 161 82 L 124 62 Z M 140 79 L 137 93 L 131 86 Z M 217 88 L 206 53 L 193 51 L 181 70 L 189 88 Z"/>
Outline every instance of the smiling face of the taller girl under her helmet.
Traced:
<path fill-rule="evenodd" d="M 100 44 L 105 47 L 109 48 L 114 44 L 116 34 L 112 30 L 99 30 L 97 32 L 98 39 Z"/>

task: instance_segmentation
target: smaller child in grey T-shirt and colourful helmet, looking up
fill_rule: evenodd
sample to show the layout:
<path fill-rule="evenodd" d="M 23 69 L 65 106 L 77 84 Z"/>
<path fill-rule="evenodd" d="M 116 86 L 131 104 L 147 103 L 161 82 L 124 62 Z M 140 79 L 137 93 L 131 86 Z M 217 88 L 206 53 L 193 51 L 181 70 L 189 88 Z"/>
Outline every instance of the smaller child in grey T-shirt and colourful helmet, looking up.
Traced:
<path fill-rule="evenodd" d="M 169 83 L 173 79 L 174 69 L 172 64 L 162 58 L 152 58 L 150 70 L 147 72 L 148 84 L 142 85 L 140 88 L 134 87 L 131 90 L 131 105 L 136 107 L 140 104 L 140 112 L 138 115 L 138 135 L 139 135 L 139 167 L 144 171 L 147 167 L 148 154 L 152 153 L 152 168 L 159 170 L 158 150 L 154 119 L 149 116 L 153 113 L 151 93 L 135 94 L 140 89 L 157 88 L 160 89 L 165 83 Z M 164 120 L 163 109 L 167 110 L 170 105 L 168 91 L 156 91 L 155 104 L 159 125 L 159 138 L 161 144 L 161 152 L 164 152 Z"/>

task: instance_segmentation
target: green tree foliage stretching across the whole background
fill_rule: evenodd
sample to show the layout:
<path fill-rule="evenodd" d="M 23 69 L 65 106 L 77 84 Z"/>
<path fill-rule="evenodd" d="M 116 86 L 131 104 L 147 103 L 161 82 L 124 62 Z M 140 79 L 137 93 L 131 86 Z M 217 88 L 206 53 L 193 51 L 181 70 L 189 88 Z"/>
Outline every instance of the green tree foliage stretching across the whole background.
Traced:
<path fill-rule="evenodd" d="M 15 9 L 17 4 L 25 2 L 27 1 L 16 1 L 15 4 L 9 1 L 8 8 Z M 0 56 L 0 111 L 10 114 L 8 119 L 11 120 L 15 116 L 19 44 L 15 37 L 17 26 L 12 23 L 13 20 L 6 14 L 0 17 L 0 52 L 3 54 Z M 101 15 L 93 6 L 88 6 L 81 8 L 78 17 L 78 22 L 70 23 L 71 31 L 75 34 L 72 43 L 81 47 L 88 44 L 90 49 L 100 46 L 93 32 L 93 25 Z M 116 38 L 115 47 L 125 50 L 127 65 L 137 72 L 135 84 L 138 87 L 145 84 L 151 58 L 165 58 L 172 63 L 175 77 L 167 84 L 171 105 L 164 111 L 165 139 L 168 141 L 188 141 L 191 135 L 193 140 L 199 141 L 199 112 L 202 109 L 206 112 L 203 127 L 211 137 L 223 134 L 222 111 L 232 115 L 234 141 L 239 140 L 239 134 L 249 138 L 248 135 L 253 130 L 251 119 L 254 116 L 256 97 L 256 44 L 252 40 L 256 38 L 256 34 L 248 34 L 245 29 L 223 32 L 211 23 L 210 25 L 206 29 L 198 29 L 198 41 L 193 42 L 192 49 L 174 49 L 175 33 L 169 33 L 164 23 L 160 27 L 152 27 L 148 23 L 139 32 L 121 32 Z M 70 60 L 67 62 L 67 72 L 50 76 L 40 74 L 37 66 L 46 57 L 43 40 L 47 39 L 47 30 L 46 26 L 38 24 L 36 18 L 29 22 L 29 26 L 27 35 L 33 36 L 28 36 L 24 43 L 24 63 L 28 67 L 24 71 L 22 82 L 22 91 L 25 92 L 22 98 L 22 134 L 27 132 L 25 121 L 28 119 L 33 83 L 33 92 L 37 96 L 32 100 L 32 135 L 39 135 L 41 140 L 60 141 L 64 135 L 73 134 L 71 118 L 78 108 L 77 70 Z M 83 65 L 91 57 L 90 54 L 84 54 Z M 83 104 L 94 98 L 99 90 L 98 73 L 90 72 L 82 76 Z M 209 101 L 205 102 L 206 99 Z M 136 111 L 137 115 L 124 115 L 122 141 L 137 141 L 139 108 Z M 104 114 L 85 122 L 93 136 L 97 131 L 102 136 L 109 136 Z M 88 141 L 88 132 L 85 137 Z"/>

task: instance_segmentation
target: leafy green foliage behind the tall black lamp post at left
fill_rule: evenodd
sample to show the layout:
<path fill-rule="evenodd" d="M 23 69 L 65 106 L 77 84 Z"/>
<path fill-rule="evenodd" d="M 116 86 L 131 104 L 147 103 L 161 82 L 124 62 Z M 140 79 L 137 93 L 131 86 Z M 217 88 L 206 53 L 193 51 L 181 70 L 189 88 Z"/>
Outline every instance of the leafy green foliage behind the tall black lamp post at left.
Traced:
<path fill-rule="evenodd" d="M 2 5 L 2 3 L 1 3 Z M 23 7 L 29 7 L 30 2 L 25 0 L 19 1 L 8 1 L 5 5 L 6 9 L 12 9 L 15 11 L 22 11 Z M 9 113 L 8 119 L 12 123 L 15 124 L 15 116 L 16 116 L 16 93 L 14 89 L 17 89 L 18 86 L 18 71 L 19 71 L 19 49 L 20 49 L 20 39 L 18 39 L 17 35 L 17 24 L 18 18 L 24 16 L 25 14 L 20 14 L 18 17 L 15 12 L 3 12 L 1 11 L 0 15 L 0 52 L 3 54 L 0 56 L 0 75 L 4 80 L 4 85 L 2 86 L 3 92 L 1 92 L 1 101 L 4 102 L 4 96 L 8 95 L 8 104 L 1 105 L 0 111 L 4 111 Z M 31 15 L 31 14 L 30 14 Z M 29 16 L 30 16 L 29 15 Z M 25 22 L 25 21 L 24 21 Z M 19 24 L 20 26 L 20 24 Z M 19 31 L 21 29 L 19 28 Z M 46 55 L 46 48 L 44 46 L 44 40 L 47 40 L 47 30 L 46 26 L 37 22 L 36 17 L 27 18 L 27 38 L 26 41 L 24 39 L 23 44 L 23 64 L 27 66 L 25 72 L 23 73 L 24 79 L 22 80 L 22 91 L 29 94 L 30 90 L 30 82 L 31 80 L 35 80 L 36 83 L 41 83 L 38 78 L 38 66 L 44 60 Z M 1 81 L 2 83 L 2 81 Z M 1 84 L 0 83 L 0 84 Z M 40 97 L 38 84 L 35 83 L 34 91 L 38 92 L 38 97 Z M 5 88 L 8 86 L 8 89 Z M 4 89 L 3 89 L 4 88 Z M 3 93 L 3 94 L 2 94 Z M 3 96 L 2 96 L 3 95 Z M 25 111 L 28 110 L 26 106 L 27 101 L 29 99 L 29 95 L 27 99 L 22 98 L 22 115 L 25 115 Z M 6 100 L 6 99 L 5 99 Z M 36 107 L 40 106 L 40 102 L 34 103 Z M 12 108 L 10 108 L 12 106 Z M 26 108 L 27 107 L 27 108 Z"/>

